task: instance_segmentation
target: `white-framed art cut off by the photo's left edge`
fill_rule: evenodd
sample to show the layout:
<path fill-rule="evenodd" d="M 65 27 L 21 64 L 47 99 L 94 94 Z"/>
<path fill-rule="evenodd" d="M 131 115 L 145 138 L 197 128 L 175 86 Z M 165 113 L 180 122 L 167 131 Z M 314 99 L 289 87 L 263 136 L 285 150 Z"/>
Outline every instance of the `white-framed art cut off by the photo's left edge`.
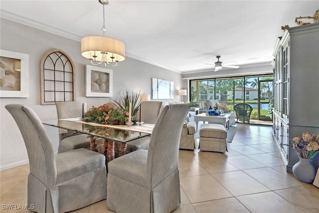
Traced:
<path fill-rule="evenodd" d="M 0 49 L 0 97 L 29 97 L 29 55 Z"/>

